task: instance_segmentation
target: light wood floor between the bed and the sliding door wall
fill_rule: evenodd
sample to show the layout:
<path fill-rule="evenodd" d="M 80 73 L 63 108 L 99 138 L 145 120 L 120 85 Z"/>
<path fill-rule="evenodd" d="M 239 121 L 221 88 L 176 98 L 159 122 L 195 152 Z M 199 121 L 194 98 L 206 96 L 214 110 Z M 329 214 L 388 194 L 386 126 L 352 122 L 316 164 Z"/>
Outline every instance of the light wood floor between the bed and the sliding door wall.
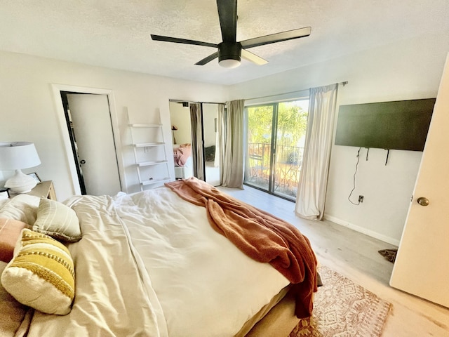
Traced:
<path fill-rule="evenodd" d="M 321 264 L 389 301 L 392 310 L 384 326 L 383 337 L 449 337 L 448 308 L 389 286 L 393 263 L 377 251 L 396 247 L 328 220 L 299 218 L 295 216 L 293 202 L 248 186 L 244 190 L 218 188 L 295 225 L 309 238 Z M 420 272 L 418 265 L 416 270 Z"/>

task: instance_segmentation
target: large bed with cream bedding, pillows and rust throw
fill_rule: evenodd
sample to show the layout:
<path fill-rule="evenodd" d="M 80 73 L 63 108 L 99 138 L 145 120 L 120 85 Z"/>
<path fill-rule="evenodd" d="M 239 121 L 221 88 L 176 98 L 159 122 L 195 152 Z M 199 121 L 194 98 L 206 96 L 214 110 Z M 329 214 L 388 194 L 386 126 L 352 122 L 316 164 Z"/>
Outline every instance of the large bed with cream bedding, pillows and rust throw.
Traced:
<path fill-rule="evenodd" d="M 257 234 L 245 237 L 232 218 Z M 13 257 L 0 264 L 1 336 L 288 336 L 311 312 L 317 275 L 307 238 L 196 178 L 63 204 L 21 194 L 0 201 L 0 219 L 22 223 Z M 260 231 L 261 223 L 281 224 L 284 237 L 267 240 L 276 230 Z M 17 272 L 34 235 L 67 249 L 60 260 L 73 260 L 74 293 L 65 303 L 48 301 L 51 291 L 42 289 L 31 304 L 20 298 L 41 286 Z M 248 246 L 255 239 L 262 244 Z M 272 242 L 290 250 L 272 256 L 264 251 Z M 66 262 L 59 261 L 70 270 Z"/>

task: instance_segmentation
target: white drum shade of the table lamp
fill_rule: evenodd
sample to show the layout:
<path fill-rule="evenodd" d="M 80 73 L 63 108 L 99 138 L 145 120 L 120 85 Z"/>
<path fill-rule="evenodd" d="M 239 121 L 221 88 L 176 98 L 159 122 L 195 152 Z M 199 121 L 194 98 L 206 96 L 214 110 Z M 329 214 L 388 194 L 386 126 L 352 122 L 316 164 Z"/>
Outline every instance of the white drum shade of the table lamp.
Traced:
<path fill-rule="evenodd" d="M 0 143 L 0 169 L 17 170 L 41 164 L 36 147 L 29 142 Z"/>

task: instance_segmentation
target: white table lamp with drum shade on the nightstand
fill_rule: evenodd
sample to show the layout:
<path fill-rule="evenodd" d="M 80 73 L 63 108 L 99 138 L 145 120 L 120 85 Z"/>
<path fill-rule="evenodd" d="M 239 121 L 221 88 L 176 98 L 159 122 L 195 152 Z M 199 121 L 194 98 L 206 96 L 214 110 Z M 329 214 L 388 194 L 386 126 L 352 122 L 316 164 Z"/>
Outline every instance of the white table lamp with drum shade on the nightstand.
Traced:
<path fill-rule="evenodd" d="M 6 180 L 5 187 L 14 193 L 27 193 L 37 184 L 37 181 L 26 174 L 22 169 L 38 166 L 41 159 L 37 154 L 34 143 L 9 142 L 0 143 L 0 169 L 4 171 L 15 170 L 15 175 Z"/>

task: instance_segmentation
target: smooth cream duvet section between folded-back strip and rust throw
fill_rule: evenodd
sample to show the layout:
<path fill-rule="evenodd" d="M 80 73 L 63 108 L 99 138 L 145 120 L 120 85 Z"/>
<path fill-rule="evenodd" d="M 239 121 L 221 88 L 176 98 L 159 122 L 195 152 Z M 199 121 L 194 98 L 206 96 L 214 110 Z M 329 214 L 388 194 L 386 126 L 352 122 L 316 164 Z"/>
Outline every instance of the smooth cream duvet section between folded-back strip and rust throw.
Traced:
<path fill-rule="evenodd" d="M 213 230 L 203 206 L 168 187 L 118 197 L 114 206 L 151 277 L 170 337 L 234 336 L 288 285 L 271 265 Z"/>

